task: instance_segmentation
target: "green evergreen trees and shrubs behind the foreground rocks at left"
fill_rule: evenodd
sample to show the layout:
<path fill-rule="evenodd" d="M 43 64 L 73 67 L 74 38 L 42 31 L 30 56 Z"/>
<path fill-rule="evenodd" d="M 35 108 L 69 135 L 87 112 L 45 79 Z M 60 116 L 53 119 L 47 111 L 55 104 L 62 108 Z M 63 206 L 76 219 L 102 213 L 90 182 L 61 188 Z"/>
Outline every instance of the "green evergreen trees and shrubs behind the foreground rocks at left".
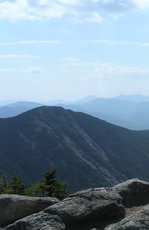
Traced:
<path fill-rule="evenodd" d="M 8 180 L 0 176 L 0 194 L 18 194 L 35 197 L 57 197 L 63 199 L 67 196 L 66 186 L 56 178 L 56 169 L 43 174 L 43 181 L 38 181 L 31 186 L 26 186 L 18 176 Z"/>

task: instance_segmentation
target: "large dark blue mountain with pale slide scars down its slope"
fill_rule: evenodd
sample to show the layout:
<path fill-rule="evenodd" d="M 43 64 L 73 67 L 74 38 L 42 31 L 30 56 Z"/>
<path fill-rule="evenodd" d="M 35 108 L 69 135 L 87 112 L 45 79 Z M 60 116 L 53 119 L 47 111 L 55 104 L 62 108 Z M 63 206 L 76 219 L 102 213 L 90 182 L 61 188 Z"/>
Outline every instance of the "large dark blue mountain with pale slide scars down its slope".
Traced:
<path fill-rule="evenodd" d="M 25 182 L 57 168 L 69 191 L 149 179 L 149 131 L 131 131 L 81 112 L 42 106 L 0 119 L 0 174 Z"/>

